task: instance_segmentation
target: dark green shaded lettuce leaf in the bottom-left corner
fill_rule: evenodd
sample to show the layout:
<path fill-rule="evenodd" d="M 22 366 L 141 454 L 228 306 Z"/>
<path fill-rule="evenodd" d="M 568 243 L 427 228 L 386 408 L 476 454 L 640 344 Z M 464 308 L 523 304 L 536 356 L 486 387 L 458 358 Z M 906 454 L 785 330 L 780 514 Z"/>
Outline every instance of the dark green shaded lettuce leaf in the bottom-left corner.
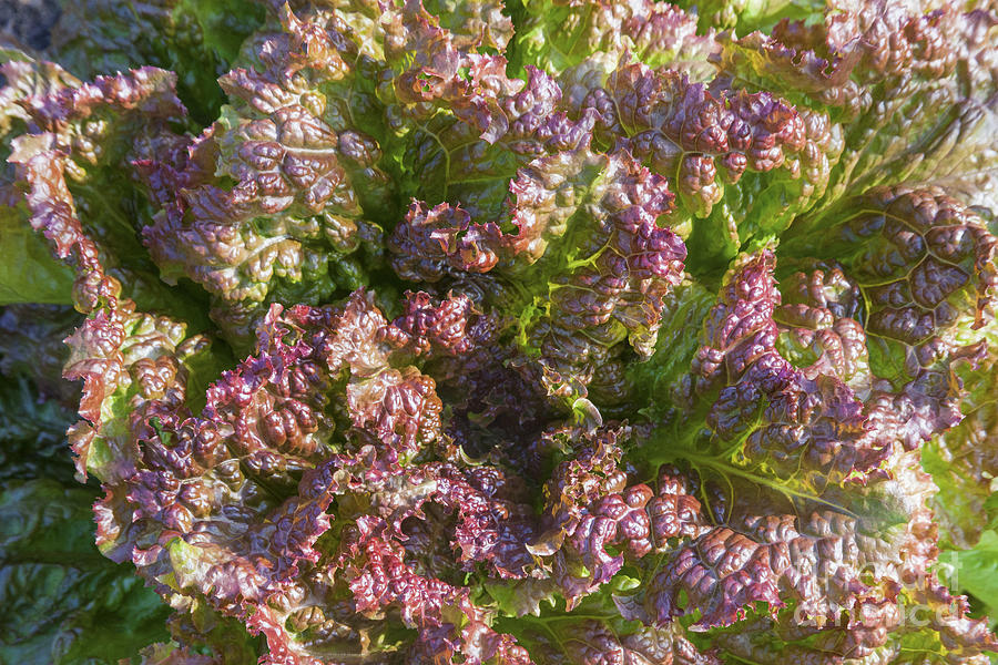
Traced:
<path fill-rule="evenodd" d="M 93 548 L 93 499 L 49 479 L 0 485 L 0 659 L 112 664 L 169 636 L 169 607 Z"/>

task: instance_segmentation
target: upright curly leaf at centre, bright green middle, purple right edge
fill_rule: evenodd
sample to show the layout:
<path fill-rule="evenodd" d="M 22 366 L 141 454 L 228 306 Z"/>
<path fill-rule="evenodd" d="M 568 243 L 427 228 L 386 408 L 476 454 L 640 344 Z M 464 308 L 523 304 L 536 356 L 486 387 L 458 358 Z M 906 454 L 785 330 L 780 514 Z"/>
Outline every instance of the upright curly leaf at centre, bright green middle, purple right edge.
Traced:
<path fill-rule="evenodd" d="M 590 386 L 598 402 L 612 405 L 623 398 L 621 372 L 597 369 L 613 367 L 627 347 L 650 352 L 663 298 L 681 279 L 682 242 L 656 224 L 671 203 L 664 181 L 627 153 L 583 145 L 521 168 L 502 218 L 416 204 L 389 247 L 396 272 L 410 279 L 468 274 L 473 283 L 485 274 L 487 298 L 522 307 L 516 342 L 540 357 L 546 391 L 574 399 Z"/>

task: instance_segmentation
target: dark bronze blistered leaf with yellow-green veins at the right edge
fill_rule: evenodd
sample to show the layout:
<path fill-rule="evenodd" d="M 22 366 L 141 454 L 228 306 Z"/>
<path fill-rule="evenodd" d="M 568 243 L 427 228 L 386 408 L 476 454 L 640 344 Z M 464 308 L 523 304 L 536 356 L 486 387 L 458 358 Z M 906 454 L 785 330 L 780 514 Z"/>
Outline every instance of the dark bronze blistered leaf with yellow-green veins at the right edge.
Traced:
<path fill-rule="evenodd" d="M 812 253 L 815 234 L 859 287 L 874 375 L 896 383 L 978 354 L 998 241 L 971 208 L 938 188 L 878 188 L 798 219 L 781 254 Z"/>

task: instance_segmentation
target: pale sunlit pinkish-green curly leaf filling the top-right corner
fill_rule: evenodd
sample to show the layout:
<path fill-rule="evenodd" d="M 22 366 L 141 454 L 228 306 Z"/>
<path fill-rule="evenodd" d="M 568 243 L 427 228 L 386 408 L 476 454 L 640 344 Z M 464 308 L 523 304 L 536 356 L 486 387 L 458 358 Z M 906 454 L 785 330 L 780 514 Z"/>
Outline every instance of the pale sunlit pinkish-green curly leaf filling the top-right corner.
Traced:
<path fill-rule="evenodd" d="M 722 72 L 841 124 L 825 202 L 905 182 L 996 207 L 994 13 L 928 9 L 831 3 L 824 21 L 782 21 L 768 37 L 725 42 Z"/>

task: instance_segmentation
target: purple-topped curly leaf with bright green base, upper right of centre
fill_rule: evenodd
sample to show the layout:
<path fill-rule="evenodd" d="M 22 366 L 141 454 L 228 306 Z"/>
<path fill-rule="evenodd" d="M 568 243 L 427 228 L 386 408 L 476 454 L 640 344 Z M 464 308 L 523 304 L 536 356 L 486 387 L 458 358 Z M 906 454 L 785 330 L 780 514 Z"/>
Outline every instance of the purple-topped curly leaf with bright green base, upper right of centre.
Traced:
<path fill-rule="evenodd" d="M 700 272 L 750 242 L 764 246 L 809 209 L 842 151 L 842 130 L 822 109 L 625 58 L 576 84 L 570 103 L 572 114 L 595 113 L 603 149 L 629 150 L 669 180 L 670 224 L 689 236 Z"/>

